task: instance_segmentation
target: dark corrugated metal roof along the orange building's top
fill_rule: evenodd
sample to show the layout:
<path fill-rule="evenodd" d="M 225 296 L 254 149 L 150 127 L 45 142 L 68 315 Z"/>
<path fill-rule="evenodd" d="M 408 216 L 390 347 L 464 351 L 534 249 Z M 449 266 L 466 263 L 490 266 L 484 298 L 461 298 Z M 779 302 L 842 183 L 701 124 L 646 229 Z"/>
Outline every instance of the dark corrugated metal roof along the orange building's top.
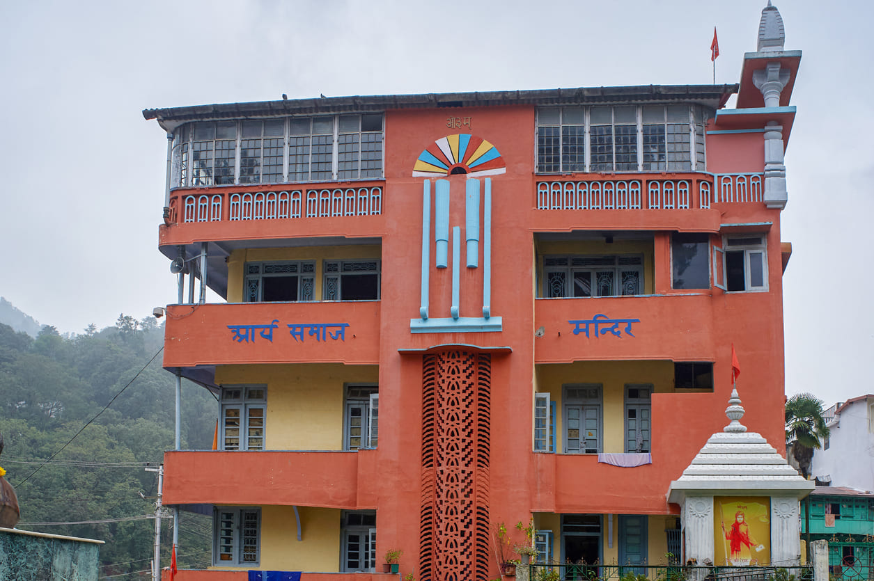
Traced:
<path fill-rule="evenodd" d="M 239 119 L 288 114 L 329 114 L 387 111 L 407 108 L 494 107 L 501 105 L 571 105 L 682 101 L 717 109 L 738 92 L 738 85 L 642 85 L 594 86 L 529 91 L 474 93 L 420 93 L 399 95 L 354 95 L 316 99 L 264 100 L 248 103 L 220 103 L 192 107 L 144 109 L 142 116 L 156 119 L 172 131 L 187 121 Z"/>

